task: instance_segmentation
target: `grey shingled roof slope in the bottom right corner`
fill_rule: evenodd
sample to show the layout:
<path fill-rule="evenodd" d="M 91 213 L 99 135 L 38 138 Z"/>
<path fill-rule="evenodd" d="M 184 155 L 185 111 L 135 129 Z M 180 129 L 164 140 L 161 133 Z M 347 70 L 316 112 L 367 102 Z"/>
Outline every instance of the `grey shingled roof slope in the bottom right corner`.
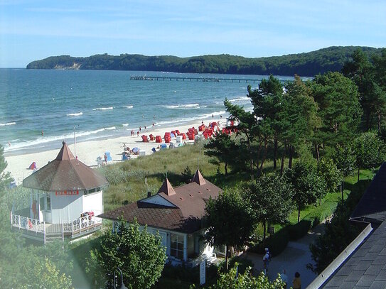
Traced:
<path fill-rule="evenodd" d="M 386 288 L 386 221 L 373 231 L 323 288 Z"/>

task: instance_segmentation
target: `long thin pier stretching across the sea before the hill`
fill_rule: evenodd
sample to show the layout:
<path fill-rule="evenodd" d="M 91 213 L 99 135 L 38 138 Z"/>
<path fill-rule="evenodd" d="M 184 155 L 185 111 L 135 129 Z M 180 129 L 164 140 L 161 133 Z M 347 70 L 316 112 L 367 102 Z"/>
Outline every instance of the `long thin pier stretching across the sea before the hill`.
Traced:
<path fill-rule="evenodd" d="M 242 78 L 215 78 L 215 77 L 172 77 L 172 76 L 148 76 L 148 75 L 136 75 L 136 76 L 131 76 L 130 80 L 155 80 L 155 81 L 165 81 L 165 80 L 175 80 L 175 81 L 196 81 L 196 82 L 250 82 L 250 83 L 260 83 L 262 82 L 263 79 L 242 79 Z M 291 82 L 293 80 L 279 80 L 284 84 L 285 82 Z"/>

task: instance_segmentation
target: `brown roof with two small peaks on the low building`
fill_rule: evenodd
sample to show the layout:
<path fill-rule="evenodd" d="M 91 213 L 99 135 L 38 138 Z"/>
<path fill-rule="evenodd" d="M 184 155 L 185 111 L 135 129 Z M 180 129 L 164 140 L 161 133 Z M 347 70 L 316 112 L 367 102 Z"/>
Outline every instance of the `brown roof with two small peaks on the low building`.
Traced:
<path fill-rule="evenodd" d="M 201 174 L 199 173 L 199 175 Z M 216 187 L 204 178 L 200 181 L 202 185 L 198 185 L 193 179 L 192 182 L 187 185 L 181 185 L 175 188 L 171 187 L 168 179 L 163 182 L 161 186 L 161 189 L 163 189 L 160 189 L 157 195 L 163 197 L 163 199 L 176 207 L 149 204 L 146 201 L 154 197 L 151 196 L 101 214 L 99 217 L 117 220 L 123 215 L 124 219 L 128 222 L 132 222 L 134 217 L 136 217 L 139 224 L 147 224 L 151 227 L 191 234 L 201 227 L 200 220 L 205 214 L 206 201 L 210 197 L 215 199 L 221 192 L 219 187 Z M 173 190 L 174 193 L 167 195 L 166 192 L 164 192 L 165 188 L 167 188 L 168 192 Z"/>

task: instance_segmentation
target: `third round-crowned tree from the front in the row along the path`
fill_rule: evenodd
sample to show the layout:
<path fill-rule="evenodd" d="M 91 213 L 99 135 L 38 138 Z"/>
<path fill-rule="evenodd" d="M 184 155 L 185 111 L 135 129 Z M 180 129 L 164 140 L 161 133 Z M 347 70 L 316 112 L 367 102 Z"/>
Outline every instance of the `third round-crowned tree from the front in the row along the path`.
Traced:
<path fill-rule="evenodd" d="M 293 168 L 286 170 L 284 176 L 294 189 L 292 200 L 298 209 L 299 223 L 301 209 L 314 203 L 316 198 L 325 192 L 326 184 L 318 176 L 316 169 L 307 163 L 295 163 Z"/>

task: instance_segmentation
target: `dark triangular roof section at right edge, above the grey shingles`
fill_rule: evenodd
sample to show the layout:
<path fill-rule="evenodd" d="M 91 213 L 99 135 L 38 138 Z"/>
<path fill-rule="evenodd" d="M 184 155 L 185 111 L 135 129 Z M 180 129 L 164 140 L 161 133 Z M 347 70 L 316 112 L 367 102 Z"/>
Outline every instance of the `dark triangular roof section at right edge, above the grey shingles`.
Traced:
<path fill-rule="evenodd" d="M 386 219 L 386 163 L 383 163 L 350 219 L 380 224 Z"/>

